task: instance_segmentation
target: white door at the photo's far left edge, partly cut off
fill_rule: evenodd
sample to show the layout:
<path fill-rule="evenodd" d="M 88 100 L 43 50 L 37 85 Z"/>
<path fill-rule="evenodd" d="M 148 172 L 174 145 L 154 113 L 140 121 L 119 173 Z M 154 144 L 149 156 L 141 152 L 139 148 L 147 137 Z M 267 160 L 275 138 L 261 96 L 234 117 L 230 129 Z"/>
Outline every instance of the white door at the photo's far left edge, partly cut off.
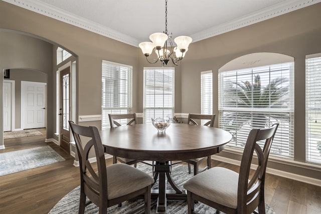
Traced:
<path fill-rule="evenodd" d="M 11 83 L 4 82 L 4 131 L 11 131 Z"/>

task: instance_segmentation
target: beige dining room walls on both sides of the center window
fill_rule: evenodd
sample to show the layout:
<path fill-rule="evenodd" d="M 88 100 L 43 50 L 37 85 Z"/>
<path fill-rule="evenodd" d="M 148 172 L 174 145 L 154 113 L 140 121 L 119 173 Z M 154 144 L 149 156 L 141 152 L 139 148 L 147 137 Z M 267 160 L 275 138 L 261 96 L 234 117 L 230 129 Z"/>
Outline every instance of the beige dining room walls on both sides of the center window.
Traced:
<path fill-rule="evenodd" d="M 273 52 L 292 56 L 295 62 L 294 153 L 295 160 L 304 162 L 304 59 L 307 54 L 321 52 L 320 11 L 321 4 L 319 3 L 242 29 L 192 43 L 182 65 L 176 67 L 175 111 L 183 113 L 200 112 L 201 71 L 213 70 L 213 109 L 214 113 L 218 114 L 217 86 L 218 69 L 220 67 L 237 57 L 250 53 Z M 11 29 L 36 35 L 74 53 L 78 62 L 78 115 L 101 113 L 102 59 L 132 65 L 133 110 L 142 112 L 143 67 L 159 65 L 148 64 L 138 48 L 4 2 L 0 2 L 0 29 Z M 0 61 L 0 69 L 7 68 L 7 65 L 7 62 Z M 51 90 L 53 90 L 54 86 L 51 85 L 51 87 Z M 54 107 L 54 105 L 52 106 Z M 2 111 L 2 105 L 0 105 L 0 108 Z M 55 111 L 52 109 L 52 112 Z M 83 124 L 100 127 L 100 121 Z M 1 132 L 2 130 L 0 130 Z M 227 152 L 222 152 L 220 155 L 240 159 L 240 156 Z M 269 166 L 318 179 L 321 178 L 321 173 L 313 167 L 302 169 L 299 166 L 294 167 L 271 162 Z"/>

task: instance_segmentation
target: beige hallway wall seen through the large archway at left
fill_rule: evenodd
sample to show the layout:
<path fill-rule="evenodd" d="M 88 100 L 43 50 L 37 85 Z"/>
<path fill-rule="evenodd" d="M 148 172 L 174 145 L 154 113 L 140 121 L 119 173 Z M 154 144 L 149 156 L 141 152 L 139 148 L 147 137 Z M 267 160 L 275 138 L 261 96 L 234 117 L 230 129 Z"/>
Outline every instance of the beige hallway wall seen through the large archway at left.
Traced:
<path fill-rule="evenodd" d="M 1 4 L 1 2 L 0 2 Z M 1 21 L 0 21 L 1 22 Z M 52 73 L 52 45 L 25 35 L 4 31 L 0 27 L 0 70 L 11 69 L 10 80 L 16 81 L 16 93 L 20 94 L 20 81 L 31 80 L 47 82 L 48 77 Z M 30 69 L 33 71 L 31 72 Z M 28 71 L 29 70 L 29 71 Z M 17 71 L 20 71 L 18 74 Z M 33 73 L 35 72 L 35 73 Z M 27 74 L 28 73 L 28 74 Z M 36 75 L 34 75 L 36 74 Z M 2 77 L 3 78 L 3 77 Z M 3 81 L 0 81 L 0 93 L 3 94 Z M 52 79 L 48 79 L 47 98 L 52 97 Z M 16 96 L 16 99 L 20 97 Z M 0 100 L 0 112 L 2 112 L 2 99 Z M 16 104 L 20 105 L 20 100 L 16 100 Z M 51 100 L 47 100 L 47 104 L 52 106 Z M 16 111 L 16 119 L 20 119 L 20 112 Z M 47 111 L 47 119 L 52 120 L 52 112 Z M 16 120 L 16 128 L 20 128 L 20 121 Z M 1 123 L 2 124 L 2 123 Z M 17 126 L 19 125 L 19 126 Z M 51 124 L 47 124 L 47 136 L 52 130 Z M 3 127 L 0 127 L 0 146 L 3 145 L 2 135 Z"/>

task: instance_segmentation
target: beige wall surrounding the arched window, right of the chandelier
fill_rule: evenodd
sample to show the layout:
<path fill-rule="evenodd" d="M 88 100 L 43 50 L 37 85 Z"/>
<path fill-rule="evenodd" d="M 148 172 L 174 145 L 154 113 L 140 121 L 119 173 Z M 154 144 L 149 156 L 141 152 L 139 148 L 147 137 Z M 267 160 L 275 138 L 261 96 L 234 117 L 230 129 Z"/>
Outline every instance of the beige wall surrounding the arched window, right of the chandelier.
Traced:
<path fill-rule="evenodd" d="M 218 115 L 218 70 L 223 65 L 259 52 L 294 57 L 294 160 L 305 162 L 305 55 L 321 52 L 320 12 L 321 4 L 316 4 L 191 44 L 181 67 L 182 112 L 200 113 L 201 71 L 213 70 L 213 111 Z M 240 155 L 224 151 L 220 155 L 240 160 Z M 321 179 L 320 169 L 313 171 L 272 162 L 268 167 Z"/>

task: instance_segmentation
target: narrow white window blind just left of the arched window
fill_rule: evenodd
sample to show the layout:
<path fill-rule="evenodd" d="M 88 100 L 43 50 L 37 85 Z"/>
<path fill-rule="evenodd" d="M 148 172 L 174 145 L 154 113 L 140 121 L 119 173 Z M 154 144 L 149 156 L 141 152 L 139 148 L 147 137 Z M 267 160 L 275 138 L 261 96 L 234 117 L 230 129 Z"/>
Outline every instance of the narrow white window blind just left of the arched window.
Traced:
<path fill-rule="evenodd" d="M 201 114 L 213 114 L 213 72 L 201 72 Z"/>

